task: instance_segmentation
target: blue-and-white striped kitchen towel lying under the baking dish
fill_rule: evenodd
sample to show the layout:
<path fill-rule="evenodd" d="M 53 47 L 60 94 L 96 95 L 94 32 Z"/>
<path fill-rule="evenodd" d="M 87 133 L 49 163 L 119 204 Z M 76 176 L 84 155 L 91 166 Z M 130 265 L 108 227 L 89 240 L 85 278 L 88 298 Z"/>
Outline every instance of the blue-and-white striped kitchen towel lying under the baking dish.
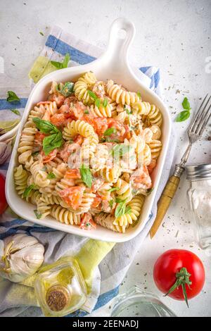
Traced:
<path fill-rule="evenodd" d="M 41 51 L 38 58 L 38 61 L 41 60 L 40 63 L 42 65 L 41 70 L 38 72 L 38 77 L 35 77 L 37 75 L 37 64 L 33 66 L 30 77 L 35 77 L 35 81 L 39 80 L 43 75 L 52 70 L 52 68 L 49 68 L 49 59 L 51 61 L 62 61 L 67 53 L 71 56 L 71 66 L 94 61 L 95 58 L 101 55 L 102 51 L 96 46 L 82 42 L 73 35 L 64 32 L 60 27 L 53 27 L 51 34 L 46 39 L 44 49 Z M 160 80 L 160 70 L 158 68 L 145 66 L 140 67 L 139 70 L 137 68 L 133 69 L 134 73 L 146 86 L 153 89 L 159 96 L 162 96 L 162 84 Z M 15 108 L 19 108 L 20 113 L 22 113 L 26 102 L 27 99 L 20 99 L 20 104 L 15 105 Z M 10 109 L 11 104 L 8 104 L 6 99 L 0 99 L 0 121 L 15 118 L 15 114 L 11 113 Z M 170 174 L 174 156 L 174 146 L 175 139 L 172 133 L 170 149 L 167 152 L 165 167 L 163 169 L 151 217 L 146 227 L 136 238 L 129 242 L 115 244 L 113 249 L 99 264 L 98 268 L 96 268 L 96 273 L 93 276 L 95 287 L 93 288 L 93 296 L 89 301 L 89 306 L 86 308 L 87 312 L 91 313 L 91 311 L 102 308 L 111 299 L 117 296 L 119 285 L 124 279 L 136 251 L 146 238 L 153 224 L 157 201 Z M 6 175 L 7 168 L 8 163 L 5 163 L 0 167 L 0 172 Z M 3 216 L 0 216 L 0 225 L 0 239 L 4 239 L 4 237 L 17 232 L 26 232 L 37 237 L 46 247 L 44 260 L 46 263 L 56 261 L 60 256 L 67 254 L 70 248 L 71 252 L 78 251 L 79 247 L 89 240 L 87 238 L 77 237 L 75 235 L 34 225 L 27 220 L 19 219 L 17 216 L 12 215 L 11 211 L 7 211 Z M 14 294 L 17 292 L 15 287 L 18 287 L 19 294 Z M 41 316 L 40 308 L 37 307 L 37 303 L 32 299 L 32 296 L 27 295 L 28 292 L 29 289 L 25 288 L 23 285 L 9 284 L 7 280 L 0 280 L 0 316 Z M 77 311 L 71 316 L 84 316 L 87 312 Z"/>

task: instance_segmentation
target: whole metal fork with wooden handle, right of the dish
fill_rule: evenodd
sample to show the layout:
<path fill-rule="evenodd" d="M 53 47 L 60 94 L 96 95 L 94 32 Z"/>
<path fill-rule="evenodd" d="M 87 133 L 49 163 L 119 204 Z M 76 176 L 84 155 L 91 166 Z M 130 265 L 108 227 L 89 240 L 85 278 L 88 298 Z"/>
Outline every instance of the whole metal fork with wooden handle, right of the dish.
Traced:
<path fill-rule="evenodd" d="M 194 142 L 196 142 L 202 135 L 203 131 L 205 130 L 205 126 L 207 125 L 208 121 L 210 120 L 211 116 L 211 95 L 208 96 L 208 94 L 205 96 L 205 99 L 203 99 L 202 104 L 198 108 L 198 111 L 193 118 L 191 124 L 188 127 L 188 138 L 189 138 L 189 144 L 188 147 L 184 153 L 184 156 L 182 156 L 180 163 L 175 165 L 174 173 L 167 181 L 167 185 L 165 185 L 165 189 L 162 191 L 162 194 L 160 196 L 160 199 L 158 201 L 158 211 L 157 216 L 155 218 L 155 221 L 153 223 L 153 226 L 150 230 L 151 238 L 154 237 L 155 233 L 158 230 L 158 227 L 160 226 L 162 219 L 165 216 L 165 213 L 167 212 L 172 199 L 174 197 L 174 194 L 177 192 L 177 188 L 179 186 L 180 177 L 182 173 L 184 172 L 184 165 L 186 164 L 188 160 L 188 156 L 191 151 L 191 147 Z"/>

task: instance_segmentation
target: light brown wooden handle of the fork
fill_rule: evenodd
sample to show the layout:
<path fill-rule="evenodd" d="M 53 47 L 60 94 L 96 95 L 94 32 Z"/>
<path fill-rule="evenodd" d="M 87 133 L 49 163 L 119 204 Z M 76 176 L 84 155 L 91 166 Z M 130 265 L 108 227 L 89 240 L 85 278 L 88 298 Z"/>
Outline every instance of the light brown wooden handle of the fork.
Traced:
<path fill-rule="evenodd" d="M 167 185 L 165 185 L 165 189 L 162 191 L 162 195 L 160 196 L 160 199 L 158 201 L 157 216 L 150 230 L 151 239 L 158 231 L 158 227 L 160 227 L 160 224 L 165 216 L 165 213 L 167 212 L 174 197 L 174 194 L 177 191 L 177 187 L 179 186 L 179 181 L 180 181 L 179 177 L 171 176 L 167 182 Z"/>

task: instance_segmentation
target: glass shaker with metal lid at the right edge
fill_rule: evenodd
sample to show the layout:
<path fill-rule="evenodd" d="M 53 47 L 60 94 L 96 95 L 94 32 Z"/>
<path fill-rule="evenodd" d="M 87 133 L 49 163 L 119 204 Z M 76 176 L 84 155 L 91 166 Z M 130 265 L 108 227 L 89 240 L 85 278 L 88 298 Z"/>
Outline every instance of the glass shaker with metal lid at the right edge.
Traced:
<path fill-rule="evenodd" d="M 202 249 L 211 246 L 211 164 L 186 165 L 190 182 L 188 201 L 196 241 Z"/>

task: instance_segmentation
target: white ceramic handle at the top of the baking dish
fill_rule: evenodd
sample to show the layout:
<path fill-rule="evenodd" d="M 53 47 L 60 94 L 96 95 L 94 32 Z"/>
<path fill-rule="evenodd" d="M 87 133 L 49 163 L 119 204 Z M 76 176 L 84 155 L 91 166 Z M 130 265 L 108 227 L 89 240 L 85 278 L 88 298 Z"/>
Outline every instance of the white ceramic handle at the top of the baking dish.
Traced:
<path fill-rule="evenodd" d="M 128 51 L 132 44 L 136 29 L 134 23 L 127 18 L 117 18 L 110 27 L 108 47 L 101 59 L 105 59 L 106 66 L 119 71 L 128 65 Z"/>

